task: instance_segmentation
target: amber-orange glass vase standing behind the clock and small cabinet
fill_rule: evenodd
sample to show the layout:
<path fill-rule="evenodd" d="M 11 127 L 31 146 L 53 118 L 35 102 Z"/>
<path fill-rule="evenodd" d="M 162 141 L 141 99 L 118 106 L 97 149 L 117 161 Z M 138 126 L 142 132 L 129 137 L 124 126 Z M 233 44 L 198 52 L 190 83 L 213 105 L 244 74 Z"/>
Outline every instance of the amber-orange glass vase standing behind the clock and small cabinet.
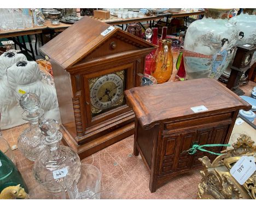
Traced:
<path fill-rule="evenodd" d="M 162 40 L 162 47 L 159 47 L 152 60 L 151 75 L 156 78 L 159 84 L 167 82 L 172 75 L 171 45 L 170 39 Z"/>

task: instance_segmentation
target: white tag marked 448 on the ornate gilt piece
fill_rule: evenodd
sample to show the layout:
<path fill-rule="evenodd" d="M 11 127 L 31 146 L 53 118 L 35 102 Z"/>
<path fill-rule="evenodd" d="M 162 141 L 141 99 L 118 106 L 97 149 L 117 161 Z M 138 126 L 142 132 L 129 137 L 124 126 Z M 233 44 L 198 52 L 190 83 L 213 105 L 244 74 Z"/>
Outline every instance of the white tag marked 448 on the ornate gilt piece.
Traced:
<path fill-rule="evenodd" d="M 240 160 L 230 169 L 230 174 L 237 180 L 240 185 L 243 185 L 255 172 L 256 164 L 254 157 L 242 156 Z"/>

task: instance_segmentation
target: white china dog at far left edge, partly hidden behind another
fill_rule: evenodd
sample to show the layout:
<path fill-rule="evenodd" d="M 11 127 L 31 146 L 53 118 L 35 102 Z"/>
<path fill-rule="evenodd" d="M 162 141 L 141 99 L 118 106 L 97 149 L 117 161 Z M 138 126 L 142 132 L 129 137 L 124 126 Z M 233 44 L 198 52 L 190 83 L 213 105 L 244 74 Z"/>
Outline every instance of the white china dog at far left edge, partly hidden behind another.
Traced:
<path fill-rule="evenodd" d="M 7 82 L 7 68 L 22 60 L 27 60 L 26 56 L 16 53 L 14 50 L 4 52 L 0 56 L 0 112 L 2 113 L 1 127 L 3 130 L 25 123 L 22 120 L 23 110 Z"/>

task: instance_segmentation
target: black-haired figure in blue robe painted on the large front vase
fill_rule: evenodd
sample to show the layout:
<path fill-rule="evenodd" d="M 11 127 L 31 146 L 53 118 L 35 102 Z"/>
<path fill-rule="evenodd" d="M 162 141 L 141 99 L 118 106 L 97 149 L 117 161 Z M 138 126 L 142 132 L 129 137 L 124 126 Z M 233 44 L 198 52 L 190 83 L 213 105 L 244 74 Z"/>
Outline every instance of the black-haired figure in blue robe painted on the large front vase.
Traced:
<path fill-rule="evenodd" d="M 229 44 L 229 40 L 226 38 L 222 39 L 222 48 L 213 55 L 212 57 L 212 69 L 210 77 L 214 78 L 216 74 L 225 66 L 228 52 L 226 51 Z M 222 73 L 222 72 L 221 72 Z"/>

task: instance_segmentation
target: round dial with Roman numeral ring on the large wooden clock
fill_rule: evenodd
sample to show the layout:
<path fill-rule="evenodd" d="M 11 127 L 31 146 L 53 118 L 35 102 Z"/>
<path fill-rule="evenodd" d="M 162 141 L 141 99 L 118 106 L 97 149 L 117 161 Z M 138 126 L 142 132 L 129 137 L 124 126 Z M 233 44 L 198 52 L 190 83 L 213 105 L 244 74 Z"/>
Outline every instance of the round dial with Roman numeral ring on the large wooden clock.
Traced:
<path fill-rule="evenodd" d="M 117 74 L 104 75 L 94 82 L 90 89 L 91 105 L 104 110 L 112 108 L 123 97 L 123 79 Z"/>

